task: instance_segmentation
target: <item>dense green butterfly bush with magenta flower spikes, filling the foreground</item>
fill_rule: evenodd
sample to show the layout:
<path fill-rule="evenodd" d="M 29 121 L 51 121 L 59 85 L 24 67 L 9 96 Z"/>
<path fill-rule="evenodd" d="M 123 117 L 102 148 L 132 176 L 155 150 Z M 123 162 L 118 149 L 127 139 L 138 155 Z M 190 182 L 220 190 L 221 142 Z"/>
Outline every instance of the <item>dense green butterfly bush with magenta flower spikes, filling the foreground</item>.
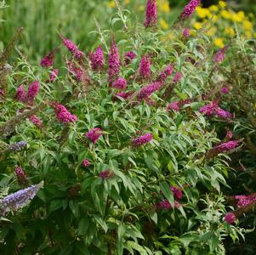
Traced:
<path fill-rule="evenodd" d="M 91 51 L 61 27 L 41 66 L 20 49 L 9 62 L 16 31 L 0 56 L 0 253 L 225 254 L 253 229 L 255 44 L 240 27 L 217 51 L 190 29 L 199 4 L 163 28 L 155 0 L 144 22 L 115 1 Z"/>

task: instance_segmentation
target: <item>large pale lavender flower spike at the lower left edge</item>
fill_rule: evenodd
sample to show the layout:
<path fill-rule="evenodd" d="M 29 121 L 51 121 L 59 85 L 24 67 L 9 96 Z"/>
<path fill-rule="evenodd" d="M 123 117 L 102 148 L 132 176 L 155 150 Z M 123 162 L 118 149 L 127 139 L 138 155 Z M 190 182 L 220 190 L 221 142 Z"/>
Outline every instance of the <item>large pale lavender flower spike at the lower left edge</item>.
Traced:
<path fill-rule="evenodd" d="M 16 211 L 22 207 L 26 207 L 42 187 L 43 183 L 36 184 L 25 190 L 19 190 L 14 194 L 7 195 L 0 200 L 0 212 L 4 215 L 6 212 Z"/>

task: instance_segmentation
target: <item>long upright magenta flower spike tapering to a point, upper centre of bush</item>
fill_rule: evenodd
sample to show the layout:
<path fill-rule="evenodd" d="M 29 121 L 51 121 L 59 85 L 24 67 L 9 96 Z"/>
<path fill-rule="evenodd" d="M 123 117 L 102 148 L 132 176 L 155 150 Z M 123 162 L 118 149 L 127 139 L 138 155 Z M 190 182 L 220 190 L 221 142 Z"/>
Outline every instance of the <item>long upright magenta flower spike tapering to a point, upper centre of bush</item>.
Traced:
<path fill-rule="evenodd" d="M 109 82 L 113 82 L 117 79 L 120 68 L 121 68 L 117 44 L 114 40 L 111 41 L 111 52 L 108 57 L 108 64 L 109 64 Z"/>

